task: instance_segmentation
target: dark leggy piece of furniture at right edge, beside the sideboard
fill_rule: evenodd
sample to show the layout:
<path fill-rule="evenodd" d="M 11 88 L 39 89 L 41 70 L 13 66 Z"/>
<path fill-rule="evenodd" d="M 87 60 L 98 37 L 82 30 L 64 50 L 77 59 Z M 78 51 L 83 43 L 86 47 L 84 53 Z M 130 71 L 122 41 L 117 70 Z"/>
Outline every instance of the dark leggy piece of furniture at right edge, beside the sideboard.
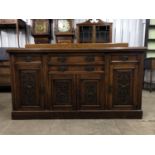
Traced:
<path fill-rule="evenodd" d="M 147 76 L 146 74 L 149 72 L 149 79 L 144 79 L 144 89 L 155 90 L 155 81 L 153 81 L 153 71 L 155 71 L 155 58 L 146 58 L 144 61 L 144 77 Z"/>

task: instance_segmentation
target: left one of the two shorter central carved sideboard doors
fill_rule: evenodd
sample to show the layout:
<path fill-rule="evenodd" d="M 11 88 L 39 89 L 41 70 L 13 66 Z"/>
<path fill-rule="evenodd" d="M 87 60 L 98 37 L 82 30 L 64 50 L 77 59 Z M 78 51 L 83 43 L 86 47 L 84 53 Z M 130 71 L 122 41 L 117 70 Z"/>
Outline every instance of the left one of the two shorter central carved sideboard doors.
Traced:
<path fill-rule="evenodd" d="M 73 74 L 49 75 L 48 101 L 52 110 L 68 111 L 76 108 L 75 77 Z"/>

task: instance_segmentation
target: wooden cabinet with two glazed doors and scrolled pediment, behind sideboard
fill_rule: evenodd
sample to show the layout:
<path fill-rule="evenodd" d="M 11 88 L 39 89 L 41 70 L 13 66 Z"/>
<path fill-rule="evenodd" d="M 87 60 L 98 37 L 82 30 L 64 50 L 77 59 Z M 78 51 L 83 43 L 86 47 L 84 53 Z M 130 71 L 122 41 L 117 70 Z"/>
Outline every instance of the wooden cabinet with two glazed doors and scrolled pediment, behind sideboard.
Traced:
<path fill-rule="evenodd" d="M 77 24 L 78 43 L 109 43 L 112 42 L 112 23 L 88 20 Z"/>

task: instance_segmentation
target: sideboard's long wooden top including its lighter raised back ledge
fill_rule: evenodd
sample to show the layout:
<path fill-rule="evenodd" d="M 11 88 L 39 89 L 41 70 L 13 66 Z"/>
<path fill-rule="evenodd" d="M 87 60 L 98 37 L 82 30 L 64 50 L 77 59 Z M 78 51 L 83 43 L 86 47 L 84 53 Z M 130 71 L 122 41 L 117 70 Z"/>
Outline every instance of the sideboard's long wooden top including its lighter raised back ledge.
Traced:
<path fill-rule="evenodd" d="M 109 44 L 28 44 L 26 48 L 9 48 L 9 53 L 52 53 L 52 52 L 145 52 L 145 47 L 128 47 L 127 43 Z"/>

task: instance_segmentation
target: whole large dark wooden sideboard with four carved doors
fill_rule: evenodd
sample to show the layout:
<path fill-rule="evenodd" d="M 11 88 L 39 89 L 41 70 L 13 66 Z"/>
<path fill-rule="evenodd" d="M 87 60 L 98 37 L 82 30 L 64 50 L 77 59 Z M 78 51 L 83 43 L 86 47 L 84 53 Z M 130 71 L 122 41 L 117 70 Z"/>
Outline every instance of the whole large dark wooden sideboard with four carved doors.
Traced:
<path fill-rule="evenodd" d="M 142 118 L 145 48 L 10 49 L 13 119 Z"/>

